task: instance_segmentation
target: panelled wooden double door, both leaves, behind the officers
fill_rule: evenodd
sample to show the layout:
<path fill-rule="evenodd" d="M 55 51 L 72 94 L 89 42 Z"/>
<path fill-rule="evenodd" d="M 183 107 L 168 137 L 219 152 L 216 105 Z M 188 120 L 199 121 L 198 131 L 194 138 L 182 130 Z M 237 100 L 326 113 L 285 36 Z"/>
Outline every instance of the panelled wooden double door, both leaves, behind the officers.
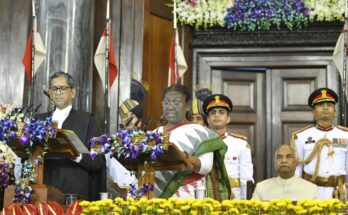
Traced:
<path fill-rule="evenodd" d="M 307 99 L 330 85 L 328 77 L 326 68 L 212 71 L 213 92 L 234 105 L 229 131 L 247 136 L 252 146 L 256 181 L 275 176 L 275 149 L 289 143 L 293 131 L 314 123 Z"/>

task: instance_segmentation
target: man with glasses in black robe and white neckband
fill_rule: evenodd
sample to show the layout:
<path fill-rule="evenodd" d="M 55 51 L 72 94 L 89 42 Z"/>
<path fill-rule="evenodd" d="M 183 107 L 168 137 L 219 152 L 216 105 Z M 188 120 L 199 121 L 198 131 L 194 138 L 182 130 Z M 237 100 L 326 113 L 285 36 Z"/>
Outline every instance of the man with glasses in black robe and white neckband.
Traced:
<path fill-rule="evenodd" d="M 49 79 L 49 95 L 55 104 L 53 112 L 38 115 L 43 119 L 52 116 L 58 128 L 74 131 L 89 148 L 89 139 L 99 136 L 100 130 L 90 113 L 72 107 L 76 90 L 73 78 L 65 72 L 55 72 Z M 106 191 L 105 157 L 92 160 L 89 154 L 77 158 L 46 158 L 44 183 L 57 187 L 65 194 L 78 194 L 84 200 L 97 200 L 99 192 Z"/>

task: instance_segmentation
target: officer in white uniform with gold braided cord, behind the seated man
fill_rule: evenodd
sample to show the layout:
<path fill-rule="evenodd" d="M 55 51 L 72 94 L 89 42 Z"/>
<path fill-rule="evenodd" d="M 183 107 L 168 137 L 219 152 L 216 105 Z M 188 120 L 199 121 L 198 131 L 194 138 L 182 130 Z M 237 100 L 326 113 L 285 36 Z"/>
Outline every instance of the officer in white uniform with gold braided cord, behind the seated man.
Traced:
<path fill-rule="evenodd" d="M 322 199 L 346 196 L 348 130 L 333 125 L 337 101 L 333 90 L 315 90 L 308 98 L 308 105 L 313 109 L 316 125 L 294 132 L 291 140 L 300 161 L 296 175 L 318 185 L 318 197 Z"/>

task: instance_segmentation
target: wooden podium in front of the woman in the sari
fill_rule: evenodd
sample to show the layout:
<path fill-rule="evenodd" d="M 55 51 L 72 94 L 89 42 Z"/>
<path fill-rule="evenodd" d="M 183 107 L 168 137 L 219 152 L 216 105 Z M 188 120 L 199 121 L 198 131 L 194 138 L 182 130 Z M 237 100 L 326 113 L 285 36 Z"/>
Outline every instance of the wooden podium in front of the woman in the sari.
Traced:
<path fill-rule="evenodd" d="M 186 170 L 193 168 L 191 162 L 173 143 L 164 145 L 163 153 L 158 154 L 155 160 L 150 158 L 149 153 L 142 153 L 136 160 L 124 160 L 116 158 L 128 170 L 136 170 L 136 177 L 138 179 L 138 187 L 141 188 L 145 184 L 155 184 L 155 171 L 169 171 L 169 170 Z M 143 174 L 143 171 L 145 172 Z M 153 190 L 148 190 L 144 193 L 147 198 L 154 196 Z"/>

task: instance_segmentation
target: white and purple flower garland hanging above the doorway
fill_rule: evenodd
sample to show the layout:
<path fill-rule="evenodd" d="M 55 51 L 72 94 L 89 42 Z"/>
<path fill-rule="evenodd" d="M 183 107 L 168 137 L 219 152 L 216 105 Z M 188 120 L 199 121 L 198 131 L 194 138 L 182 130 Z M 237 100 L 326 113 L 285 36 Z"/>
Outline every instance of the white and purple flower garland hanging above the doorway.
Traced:
<path fill-rule="evenodd" d="M 271 26 L 301 29 L 313 21 L 343 21 L 344 0 L 177 0 L 181 24 L 196 29 L 268 30 Z"/>

